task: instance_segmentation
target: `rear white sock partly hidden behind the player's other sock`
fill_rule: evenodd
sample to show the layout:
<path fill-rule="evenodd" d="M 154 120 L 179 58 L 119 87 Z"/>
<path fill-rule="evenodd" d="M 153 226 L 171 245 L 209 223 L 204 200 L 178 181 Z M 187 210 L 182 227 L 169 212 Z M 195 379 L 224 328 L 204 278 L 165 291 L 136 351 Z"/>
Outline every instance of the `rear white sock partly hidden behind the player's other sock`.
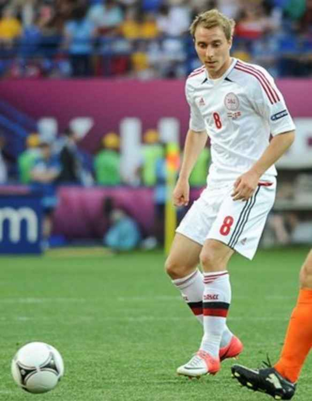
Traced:
<path fill-rule="evenodd" d="M 203 324 L 203 293 L 205 289 L 204 276 L 199 269 L 191 274 L 172 280 L 172 283 L 180 290 L 182 298 L 188 304 L 197 320 Z M 233 333 L 227 326 L 222 333 L 221 347 L 225 347 L 231 341 Z"/>

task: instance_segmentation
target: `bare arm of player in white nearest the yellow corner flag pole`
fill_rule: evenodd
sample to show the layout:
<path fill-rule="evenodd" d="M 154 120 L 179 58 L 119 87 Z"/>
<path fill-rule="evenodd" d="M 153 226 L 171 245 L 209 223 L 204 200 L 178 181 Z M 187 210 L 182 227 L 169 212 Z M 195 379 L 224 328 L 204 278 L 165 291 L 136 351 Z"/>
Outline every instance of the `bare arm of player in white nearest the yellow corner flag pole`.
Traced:
<path fill-rule="evenodd" d="M 188 179 L 197 161 L 197 158 L 207 142 L 206 131 L 188 130 L 184 144 L 183 161 L 180 174 L 173 191 L 175 206 L 187 205 L 189 201 L 190 186 Z"/>

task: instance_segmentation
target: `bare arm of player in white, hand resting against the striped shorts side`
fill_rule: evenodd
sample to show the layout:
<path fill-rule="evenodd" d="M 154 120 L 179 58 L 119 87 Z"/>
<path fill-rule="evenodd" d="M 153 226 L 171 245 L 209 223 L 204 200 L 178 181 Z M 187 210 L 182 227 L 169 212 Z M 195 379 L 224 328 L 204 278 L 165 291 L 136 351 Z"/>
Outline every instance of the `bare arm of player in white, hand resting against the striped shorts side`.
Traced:
<path fill-rule="evenodd" d="M 283 132 L 272 138 L 269 146 L 265 149 L 259 160 L 242 174 L 234 184 L 232 193 L 233 200 L 247 201 L 258 185 L 259 179 L 265 171 L 271 167 L 285 152 L 295 139 L 295 131 Z"/>

